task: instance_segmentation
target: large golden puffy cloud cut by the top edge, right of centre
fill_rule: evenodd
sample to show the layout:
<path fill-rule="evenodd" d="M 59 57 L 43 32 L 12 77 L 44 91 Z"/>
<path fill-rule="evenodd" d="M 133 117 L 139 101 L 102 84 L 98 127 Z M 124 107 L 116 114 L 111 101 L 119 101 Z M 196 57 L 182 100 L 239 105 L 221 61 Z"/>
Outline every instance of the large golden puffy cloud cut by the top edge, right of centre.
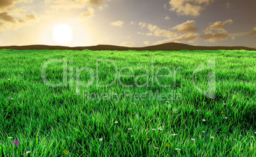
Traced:
<path fill-rule="evenodd" d="M 170 11 L 176 11 L 178 15 L 188 15 L 197 17 L 206 6 L 214 0 L 170 0 Z"/>

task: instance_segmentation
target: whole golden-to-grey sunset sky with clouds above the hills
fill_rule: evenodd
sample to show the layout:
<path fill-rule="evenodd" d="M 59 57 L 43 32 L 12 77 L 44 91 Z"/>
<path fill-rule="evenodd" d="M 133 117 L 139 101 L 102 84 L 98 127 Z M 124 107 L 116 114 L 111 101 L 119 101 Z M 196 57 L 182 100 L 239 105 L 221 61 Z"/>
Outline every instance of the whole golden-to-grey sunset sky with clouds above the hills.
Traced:
<path fill-rule="evenodd" d="M 0 46 L 256 47 L 255 0 L 0 0 Z"/>

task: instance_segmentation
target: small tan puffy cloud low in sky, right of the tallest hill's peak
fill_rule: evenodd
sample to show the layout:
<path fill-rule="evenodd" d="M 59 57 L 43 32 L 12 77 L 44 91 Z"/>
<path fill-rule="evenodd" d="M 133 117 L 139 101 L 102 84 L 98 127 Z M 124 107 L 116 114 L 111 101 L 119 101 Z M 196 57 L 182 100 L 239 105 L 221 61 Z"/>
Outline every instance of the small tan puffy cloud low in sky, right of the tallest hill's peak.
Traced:
<path fill-rule="evenodd" d="M 227 34 L 227 31 L 213 33 L 213 32 L 206 32 L 205 34 L 201 35 L 201 38 L 204 39 L 204 41 L 208 41 L 210 43 L 215 43 L 218 40 L 224 41 L 229 37 L 229 34 Z"/>

